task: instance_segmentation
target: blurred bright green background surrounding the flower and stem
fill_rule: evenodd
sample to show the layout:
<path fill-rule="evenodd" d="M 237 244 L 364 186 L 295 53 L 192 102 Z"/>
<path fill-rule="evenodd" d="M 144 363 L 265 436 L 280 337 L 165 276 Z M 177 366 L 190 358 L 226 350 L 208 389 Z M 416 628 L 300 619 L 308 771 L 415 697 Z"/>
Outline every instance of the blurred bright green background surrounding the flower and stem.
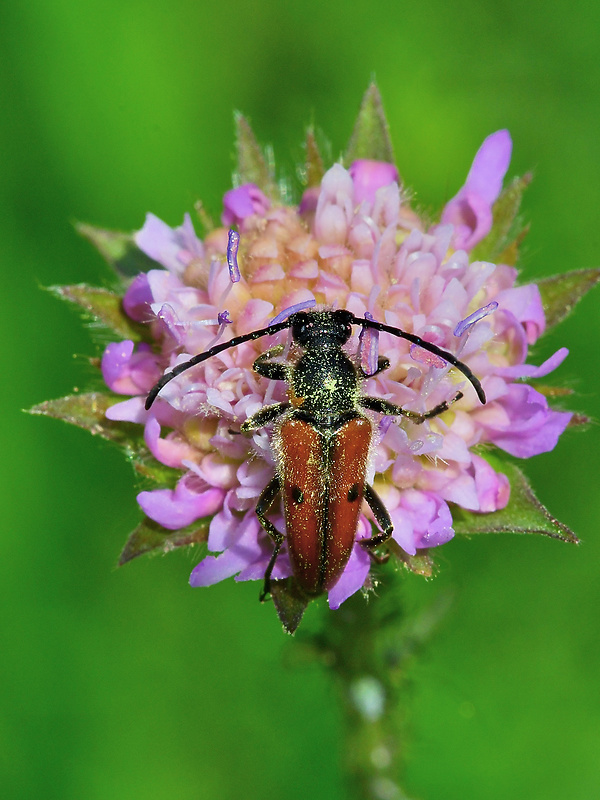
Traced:
<path fill-rule="evenodd" d="M 5 798 L 342 798 L 340 717 L 255 584 L 190 590 L 194 554 L 115 569 L 135 482 L 110 446 L 20 412 L 89 386 L 98 354 L 40 287 L 106 269 L 74 220 L 169 224 L 230 186 L 232 110 L 290 171 L 306 123 L 346 145 L 372 75 L 397 161 L 439 207 L 508 127 L 533 169 L 526 278 L 600 263 L 600 6 L 372 0 L 6 0 L 0 9 L 0 786 Z M 534 354 L 598 414 L 600 296 Z M 74 357 L 75 355 L 75 357 Z M 406 784 L 423 800 L 589 800 L 600 785 L 599 433 L 530 462 L 584 540 L 455 541 L 419 607 L 455 602 L 411 671 Z M 322 605 L 322 604 L 321 604 Z M 313 630 L 322 609 L 311 609 Z"/>

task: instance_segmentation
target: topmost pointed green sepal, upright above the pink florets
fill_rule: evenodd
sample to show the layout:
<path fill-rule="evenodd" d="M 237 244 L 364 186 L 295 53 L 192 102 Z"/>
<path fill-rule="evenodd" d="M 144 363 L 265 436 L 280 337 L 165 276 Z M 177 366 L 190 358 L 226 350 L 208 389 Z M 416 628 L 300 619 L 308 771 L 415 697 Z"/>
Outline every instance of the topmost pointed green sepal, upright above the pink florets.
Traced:
<path fill-rule="evenodd" d="M 350 165 L 359 158 L 394 163 L 390 128 L 383 110 L 381 94 L 375 83 L 369 86 L 363 97 L 344 155 L 344 163 Z"/>

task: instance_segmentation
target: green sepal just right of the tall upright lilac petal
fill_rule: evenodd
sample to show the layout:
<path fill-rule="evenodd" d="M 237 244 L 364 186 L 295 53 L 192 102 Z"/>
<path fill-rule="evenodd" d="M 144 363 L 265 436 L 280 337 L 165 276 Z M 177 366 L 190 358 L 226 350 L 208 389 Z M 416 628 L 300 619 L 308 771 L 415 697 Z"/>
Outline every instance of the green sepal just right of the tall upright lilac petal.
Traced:
<path fill-rule="evenodd" d="M 531 183 L 531 173 L 514 180 L 502 190 L 492 209 L 492 229 L 473 248 L 475 261 L 493 261 L 514 266 L 519 255 L 519 246 L 529 228 L 519 217 L 523 192 Z"/>

